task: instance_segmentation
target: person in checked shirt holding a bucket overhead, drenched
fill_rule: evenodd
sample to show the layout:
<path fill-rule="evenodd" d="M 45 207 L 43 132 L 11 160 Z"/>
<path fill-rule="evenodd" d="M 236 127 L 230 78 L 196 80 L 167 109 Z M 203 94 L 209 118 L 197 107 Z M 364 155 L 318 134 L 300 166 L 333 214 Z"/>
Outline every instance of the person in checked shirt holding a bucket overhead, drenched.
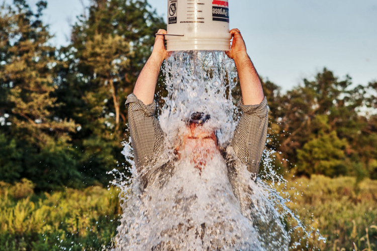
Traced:
<path fill-rule="evenodd" d="M 161 64 L 169 56 L 163 36 L 156 36 L 152 54 L 137 79 L 133 93 L 128 95 L 126 105 L 128 105 L 134 161 L 142 192 L 156 180 L 161 188 L 166 186 L 170 177 L 176 172 L 176 163 L 180 159 L 190 159 L 201 174 L 206 170 L 209 161 L 222 156 L 226 163 L 233 196 L 238 200 L 241 213 L 247 216 L 251 202 L 245 196 L 247 192 L 242 191 L 242 189 L 245 190 L 245 186 L 241 186 L 241 180 L 244 178 L 245 170 L 250 174 L 250 179 L 255 181 L 257 178 L 266 142 L 268 104 L 260 78 L 247 54 L 240 31 L 233 29 L 230 33 L 233 41 L 231 50 L 226 53 L 234 60 L 237 68 L 242 92 L 237 105 L 242 114 L 234 136 L 225 149 L 219 148 L 216 132 L 205 127 L 211 119 L 210 115 L 196 112 L 187 118 L 186 133 L 181 137 L 179 145 L 174 146 L 175 157 L 166 163 L 160 163 L 159 156 L 166 150 L 167 144 L 165 143 L 166 136 L 154 116 L 156 108 L 154 94 Z M 166 34 L 166 31 L 159 30 L 158 34 Z M 246 186 L 247 189 L 249 188 Z M 247 217 L 250 218 L 250 216 Z M 206 228 L 208 228 L 206 223 L 203 223 L 200 230 L 197 230 L 200 232 L 199 236 L 203 243 Z"/>

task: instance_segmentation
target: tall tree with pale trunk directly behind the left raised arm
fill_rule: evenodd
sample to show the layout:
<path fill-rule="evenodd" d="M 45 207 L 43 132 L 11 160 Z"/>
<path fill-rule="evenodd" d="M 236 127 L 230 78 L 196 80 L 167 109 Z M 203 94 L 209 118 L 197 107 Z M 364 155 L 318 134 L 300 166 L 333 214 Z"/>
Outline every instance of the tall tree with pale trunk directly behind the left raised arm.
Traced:
<path fill-rule="evenodd" d="M 66 105 L 58 114 L 81 125 L 72 142 L 86 179 L 107 182 L 106 171 L 124 159 L 126 96 L 151 53 L 154 33 L 165 26 L 146 1 L 96 0 L 61 49 L 56 96 Z"/>

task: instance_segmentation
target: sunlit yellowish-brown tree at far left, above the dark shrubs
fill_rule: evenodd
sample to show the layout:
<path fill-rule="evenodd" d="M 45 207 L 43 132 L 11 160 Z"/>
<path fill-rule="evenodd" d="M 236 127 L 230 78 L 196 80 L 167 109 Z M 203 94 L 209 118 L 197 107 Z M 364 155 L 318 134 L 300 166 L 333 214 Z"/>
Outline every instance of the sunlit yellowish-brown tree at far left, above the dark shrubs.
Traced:
<path fill-rule="evenodd" d="M 2 11 L 0 30 L 4 62 L 0 66 L 0 81 L 6 93 L 2 114 L 10 114 L 7 120 L 15 125 L 14 133 L 39 147 L 56 138 L 67 141 L 66 133 L 75 130 L 72 120 L 61 120 L 51 113 L 59 104 L 51 97 L 55 90 L 55 48 L 48 45 L 48 27 L 39 19 L 46 5 L 38 2 L 37 13 L 33 14 L 25 1 L 15 1 L 16 10 L 4 7 L 8 13 Z"/>

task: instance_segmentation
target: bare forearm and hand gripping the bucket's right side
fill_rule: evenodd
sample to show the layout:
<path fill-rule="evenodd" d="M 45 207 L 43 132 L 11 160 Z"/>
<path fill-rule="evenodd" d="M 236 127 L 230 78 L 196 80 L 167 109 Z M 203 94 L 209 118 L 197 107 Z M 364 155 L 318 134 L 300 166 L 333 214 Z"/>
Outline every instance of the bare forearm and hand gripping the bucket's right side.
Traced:
<path fill-rule="evenodd" d="M 259 104 L 263 98 L 263 89 L 258 73 L 246 52 L 246 45 L 238 29 L 230 31 L 233 41 L 227 52 L 228 57 L 234 59 L 242 92 L 244 105 Z"/>

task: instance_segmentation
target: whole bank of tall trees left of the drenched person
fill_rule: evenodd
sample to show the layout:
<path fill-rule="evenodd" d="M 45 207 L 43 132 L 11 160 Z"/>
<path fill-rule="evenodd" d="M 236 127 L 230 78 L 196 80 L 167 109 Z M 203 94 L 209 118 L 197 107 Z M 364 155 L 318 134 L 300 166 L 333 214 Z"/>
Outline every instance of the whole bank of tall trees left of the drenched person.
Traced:
<path fill-rule="evenodd" d="M 37 190 L 106 184 L 123 160 L 125 97 L 165 24 L 146 1 L 92 1 L 58 50 L 41 21 L 46 6 L 2 6 L 0 180 L 26 177 Z"/>

